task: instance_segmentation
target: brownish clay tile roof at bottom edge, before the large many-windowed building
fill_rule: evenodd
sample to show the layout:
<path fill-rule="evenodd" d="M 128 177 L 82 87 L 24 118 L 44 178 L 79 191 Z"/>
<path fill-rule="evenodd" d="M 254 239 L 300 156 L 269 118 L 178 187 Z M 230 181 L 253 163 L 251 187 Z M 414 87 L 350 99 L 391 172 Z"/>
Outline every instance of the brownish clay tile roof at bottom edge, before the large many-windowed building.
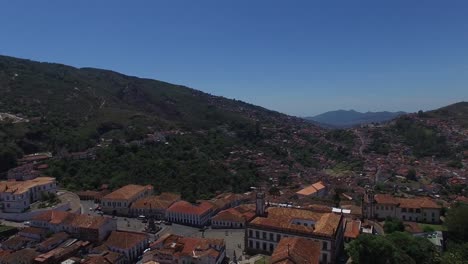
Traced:
<path fill-rule="evenodd" d="M 318 264 L 320 243 L 299 237 L 284 237 L 271 255 L 271 263 Z"/>

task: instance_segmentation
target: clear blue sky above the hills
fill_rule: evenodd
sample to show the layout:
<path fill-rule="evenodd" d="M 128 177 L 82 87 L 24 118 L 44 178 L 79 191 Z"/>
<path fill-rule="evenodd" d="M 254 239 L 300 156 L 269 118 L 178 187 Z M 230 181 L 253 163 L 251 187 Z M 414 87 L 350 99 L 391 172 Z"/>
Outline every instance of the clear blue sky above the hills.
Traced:
<path fill-rule="evenodd" d="M 468 101 L 468 1 L 1 1 L 0 54 L 293 115 Z"/>

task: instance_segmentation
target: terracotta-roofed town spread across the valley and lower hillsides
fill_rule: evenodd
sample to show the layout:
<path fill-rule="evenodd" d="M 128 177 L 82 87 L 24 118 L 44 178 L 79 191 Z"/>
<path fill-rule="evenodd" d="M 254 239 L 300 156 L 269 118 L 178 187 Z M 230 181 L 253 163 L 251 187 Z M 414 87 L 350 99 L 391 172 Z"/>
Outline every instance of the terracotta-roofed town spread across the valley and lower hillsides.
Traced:
<path fill-rule="evenodd" d="M 447 128 L 452 141 L 466 142 L 466 130 L 435 125 Z M 354 130 L 362 148 L 372 129 Z M 167 134 L 147 140 L 165 144 Z M 295 137 L 277 140 L 301 144 Z M 303 171 L 287 175 L 284 185 L 284 164 L 232 151 L 227 163 L 252 159 L 269 176 L 267 184 L 195 202 L 152 185 L 70 192 L 44 175 L 47 161 L 95 159 L 93 150 L 27 155 L 0 182 L 0 218 L 9 227 L 2 232 L 0 263 L 346 263 L 346 245 L 361 234 L 384 234 L 386 219 L 402 221 L 408 232 L 443 250 L 441 233 L 424 231 L 424 225 L 440 226 L 443 209 L 468 198 L 444 194 L 446 187 L 435 180 L 443 176 L 448 185 L 466 186 L 466 171 L 435 158 L 410 160 L 398 146 L 385 157 L 362 149 L 355 155 L 365 159 L 362 172 Z M 409 179 L 411 169 L 416 175 Z"/>

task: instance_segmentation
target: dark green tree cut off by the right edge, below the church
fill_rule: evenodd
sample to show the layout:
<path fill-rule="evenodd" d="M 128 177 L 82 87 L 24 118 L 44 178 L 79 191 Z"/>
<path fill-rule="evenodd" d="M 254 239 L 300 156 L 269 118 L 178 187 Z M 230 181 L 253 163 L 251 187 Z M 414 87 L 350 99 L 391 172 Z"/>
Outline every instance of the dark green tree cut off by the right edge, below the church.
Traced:
<path fill-rule="evenodd" d="M 468 242 L 468 206 L 456 205 L 448 210 L 445 225 L 454 241 Z"/>

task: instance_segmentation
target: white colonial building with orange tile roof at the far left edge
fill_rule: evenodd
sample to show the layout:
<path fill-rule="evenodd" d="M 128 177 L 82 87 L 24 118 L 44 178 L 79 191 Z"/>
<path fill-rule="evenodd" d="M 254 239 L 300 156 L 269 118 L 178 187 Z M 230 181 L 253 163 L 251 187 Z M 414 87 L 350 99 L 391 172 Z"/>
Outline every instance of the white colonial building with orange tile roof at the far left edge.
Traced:
<path fill-rule="evenodd" d="M 55 178 L 37 177 L 26 181 L 0 182 L 0 207 L 5 213 L 21 213 L 42 198 L 44 193 L 56 193 Z"/>

